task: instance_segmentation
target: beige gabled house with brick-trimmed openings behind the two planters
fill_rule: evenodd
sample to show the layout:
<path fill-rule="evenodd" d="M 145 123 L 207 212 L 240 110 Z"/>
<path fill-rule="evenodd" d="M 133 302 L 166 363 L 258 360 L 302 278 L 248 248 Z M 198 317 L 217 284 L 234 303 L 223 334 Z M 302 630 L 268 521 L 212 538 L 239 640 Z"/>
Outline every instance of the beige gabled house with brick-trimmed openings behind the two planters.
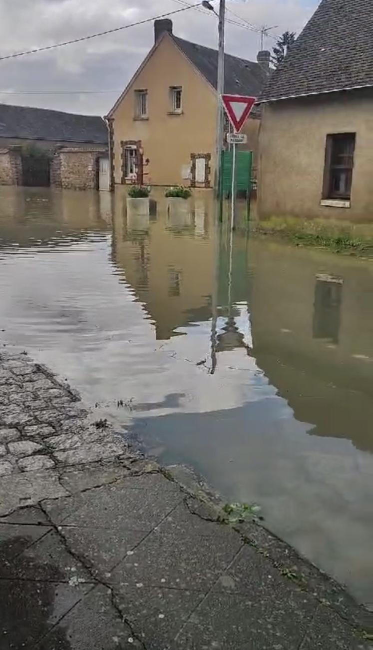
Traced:
<path fill-rule="evenodd" d="M 225 57 L 225 91 L 258 96 L 269 73 L 259 62 Z M 114 183 L 211 187 L 215 168 L 217 51 L 178 38 L 169 19 L 154 23 L 154 46 L 107 116 Z M 258 110 L 246 125 L 256 149 Z"/>

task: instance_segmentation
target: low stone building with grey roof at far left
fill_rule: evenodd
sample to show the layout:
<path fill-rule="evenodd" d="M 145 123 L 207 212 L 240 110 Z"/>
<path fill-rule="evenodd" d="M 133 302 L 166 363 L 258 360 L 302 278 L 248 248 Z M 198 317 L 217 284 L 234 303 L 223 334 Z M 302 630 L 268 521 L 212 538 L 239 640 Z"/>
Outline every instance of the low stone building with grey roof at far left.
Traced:
<path fill-rule="evenodd" d="M 0 104 L 0 185 L 95 187 L 107 151 L 101 117 Z"/>

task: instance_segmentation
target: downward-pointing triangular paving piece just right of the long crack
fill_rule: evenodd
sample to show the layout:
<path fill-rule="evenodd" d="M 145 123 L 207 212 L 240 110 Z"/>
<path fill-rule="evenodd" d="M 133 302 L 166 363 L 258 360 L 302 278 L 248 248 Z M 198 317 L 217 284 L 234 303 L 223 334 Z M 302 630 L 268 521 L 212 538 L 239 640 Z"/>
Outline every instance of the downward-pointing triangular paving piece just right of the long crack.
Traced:
<path fill-rule="evenodd" d="M 61 533 L 69 549 L 82 559 L 85 566 L 91 567 L 93 575 L 104 580 L 111 577 L 110 571 L 147 536 L 147 530 L 128 530 L 123 526 L 106 528 L 80 528 L 61 526 Z"/>

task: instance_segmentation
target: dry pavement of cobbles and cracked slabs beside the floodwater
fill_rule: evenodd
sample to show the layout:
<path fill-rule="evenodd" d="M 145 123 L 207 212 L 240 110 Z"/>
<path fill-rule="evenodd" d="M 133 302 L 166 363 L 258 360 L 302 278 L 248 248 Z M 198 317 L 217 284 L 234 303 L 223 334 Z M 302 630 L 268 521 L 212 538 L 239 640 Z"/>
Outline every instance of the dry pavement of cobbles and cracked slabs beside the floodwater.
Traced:
<path fill-rule="evenodd" d="M 0 354 L 1 650 L 372 650 L 341 586 L 87 416 Z"/>

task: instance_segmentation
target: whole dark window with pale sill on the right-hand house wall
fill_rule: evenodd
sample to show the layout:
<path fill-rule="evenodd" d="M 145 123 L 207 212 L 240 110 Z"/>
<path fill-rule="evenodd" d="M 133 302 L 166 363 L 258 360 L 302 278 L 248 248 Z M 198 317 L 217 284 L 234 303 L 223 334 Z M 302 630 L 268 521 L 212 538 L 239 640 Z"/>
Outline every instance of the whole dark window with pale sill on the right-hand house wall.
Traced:
<path fill-rule="evenodd" d="M 322 198 L 349 200 L 354 168 L 355 133 L 326 136 Z"/>

